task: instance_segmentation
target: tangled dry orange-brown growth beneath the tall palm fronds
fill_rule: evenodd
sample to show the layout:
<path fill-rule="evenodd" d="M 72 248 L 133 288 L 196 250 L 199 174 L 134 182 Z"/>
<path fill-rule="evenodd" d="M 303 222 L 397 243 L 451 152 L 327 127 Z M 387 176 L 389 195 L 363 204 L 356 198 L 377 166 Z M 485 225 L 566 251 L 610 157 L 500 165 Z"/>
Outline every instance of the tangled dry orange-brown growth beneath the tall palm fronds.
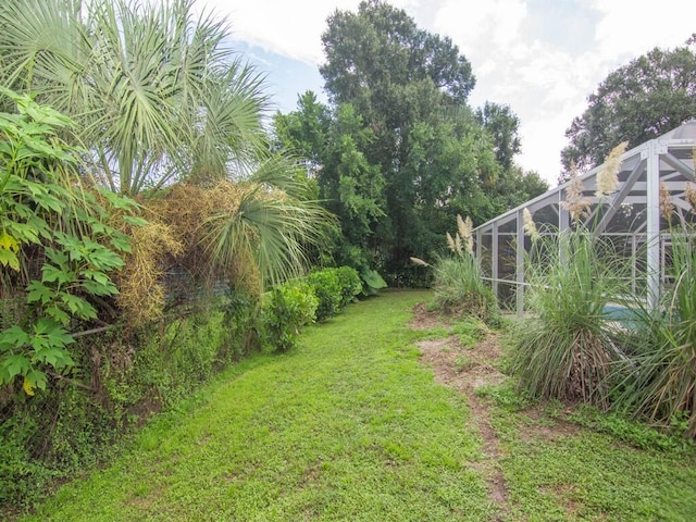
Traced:
<path fill-rule="evenodd" d="M 221 266 L 212 260 L 208 235 L 212 215 L 237 213 L 240 201 L 254 190 L 257 185 L 231 182 L 210 187 L 176 185 L 161 197 L 139 201 L 141 216 L 148 224 L 120 226 L 130 237 L 132 251 L 125 256 L 124 269 L 114 277 L 120 289 L 117 304 L 130 324 L 162 316 L 167 291 L 172 290 L 166 286 L 165 275 L 173 266 L 188 273 L 188 284 L 198 289 L 210 289 L 224 281 L 260 295 L 261 275 L 251 252 L 239 252 Z"/>

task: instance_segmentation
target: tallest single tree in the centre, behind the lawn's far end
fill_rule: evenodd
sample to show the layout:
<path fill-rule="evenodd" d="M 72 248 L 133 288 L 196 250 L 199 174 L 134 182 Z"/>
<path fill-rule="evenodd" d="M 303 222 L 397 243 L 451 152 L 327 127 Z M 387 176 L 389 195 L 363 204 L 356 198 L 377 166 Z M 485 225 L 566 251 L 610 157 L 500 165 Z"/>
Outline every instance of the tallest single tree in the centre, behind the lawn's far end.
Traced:
<path fill-rule="evenodd" d="M 435 248 L 446 226 L 440 214 L 499 173 L 490 137 L 467 105 L 475 84 L 471 65 L 449 38 L 378 0 L 336 11 L 322 42 L 330 99 L 352 105 L 373 133 L 358 145 L 365 165 L 384 179 L 384 215 L 371 224 L 373 253 L 396 278 L 410 256 Z"/>

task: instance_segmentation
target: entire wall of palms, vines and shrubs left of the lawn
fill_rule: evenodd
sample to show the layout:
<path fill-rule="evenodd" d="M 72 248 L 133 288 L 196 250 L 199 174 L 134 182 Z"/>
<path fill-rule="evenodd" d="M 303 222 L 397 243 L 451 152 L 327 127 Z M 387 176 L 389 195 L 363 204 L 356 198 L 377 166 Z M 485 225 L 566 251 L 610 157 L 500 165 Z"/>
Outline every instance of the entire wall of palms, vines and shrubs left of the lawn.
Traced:
<path fill-rule="evenodd" d="M 11 0 L 0 26 L 0 501 L 18 502 L 251 350 L 289 348 L 313 289 L 299 320 L 263 296 L 332 219 L 270 146 L 260 76 L 191 1 Z"/>

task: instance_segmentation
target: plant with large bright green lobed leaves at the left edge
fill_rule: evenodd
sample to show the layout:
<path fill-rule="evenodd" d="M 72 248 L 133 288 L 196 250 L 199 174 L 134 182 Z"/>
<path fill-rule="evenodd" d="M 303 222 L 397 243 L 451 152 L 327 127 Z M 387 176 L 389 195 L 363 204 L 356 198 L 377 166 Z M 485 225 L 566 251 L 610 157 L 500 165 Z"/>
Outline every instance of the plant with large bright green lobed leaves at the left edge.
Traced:
<path fill-rule="evenodd" d="M 0 318 L 14 323 L 0 332 L 0 385 L 22 380 L 34 395 L 74 365 L 69 327 L 96 319 L 95 300 L 117 294 L 109 274 L 123 266 L 129 245 L 109 216 L 136 204 L 102 192 L 104 208 L 83 190 L 80 151 L 59 139 L 67 117 L 28 96 L 4 88 L 0 96 L 17 110 L 0 113 L 0 283 L 24 301 Z"/>

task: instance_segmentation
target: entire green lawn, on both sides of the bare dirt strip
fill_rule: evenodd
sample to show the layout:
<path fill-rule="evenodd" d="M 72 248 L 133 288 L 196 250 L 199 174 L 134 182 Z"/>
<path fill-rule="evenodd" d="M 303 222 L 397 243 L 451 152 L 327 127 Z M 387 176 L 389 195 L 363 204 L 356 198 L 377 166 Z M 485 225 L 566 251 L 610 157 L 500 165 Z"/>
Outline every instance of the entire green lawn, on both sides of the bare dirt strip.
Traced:
<path fill-rule="evenodd" d="M 507 408 L 498 388 L 438 384 L 417 343 L 447 328 L 408 326 L 428 298 L 352 304 L 291 352 L 231 369 L 23 520 L 694 520 L 693 450 L 638 450 Z"/>

